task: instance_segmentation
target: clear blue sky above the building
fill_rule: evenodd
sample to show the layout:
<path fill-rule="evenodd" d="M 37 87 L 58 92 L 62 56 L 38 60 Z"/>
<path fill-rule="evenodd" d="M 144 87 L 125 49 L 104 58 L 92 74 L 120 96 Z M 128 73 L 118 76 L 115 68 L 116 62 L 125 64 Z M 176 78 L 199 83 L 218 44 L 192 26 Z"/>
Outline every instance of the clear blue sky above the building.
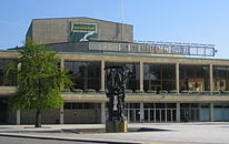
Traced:
<path fill-rule="evenodd" d="M 32 19 L 68 17 L 132 24 L 135 40 L 215 44 L 229 59 L 229 0 L 1 0 L 0 50 L 22 45 Z"/>

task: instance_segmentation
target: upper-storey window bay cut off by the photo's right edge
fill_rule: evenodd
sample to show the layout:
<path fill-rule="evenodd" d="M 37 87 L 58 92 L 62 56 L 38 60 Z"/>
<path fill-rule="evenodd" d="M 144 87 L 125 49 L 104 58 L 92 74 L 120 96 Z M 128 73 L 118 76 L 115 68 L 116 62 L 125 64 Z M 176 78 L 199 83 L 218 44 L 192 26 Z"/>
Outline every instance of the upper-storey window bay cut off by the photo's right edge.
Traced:
<path fill-rule="evenodd" d="M 229 91 L 229 66 L 213 66 L 213 91 Z"/>

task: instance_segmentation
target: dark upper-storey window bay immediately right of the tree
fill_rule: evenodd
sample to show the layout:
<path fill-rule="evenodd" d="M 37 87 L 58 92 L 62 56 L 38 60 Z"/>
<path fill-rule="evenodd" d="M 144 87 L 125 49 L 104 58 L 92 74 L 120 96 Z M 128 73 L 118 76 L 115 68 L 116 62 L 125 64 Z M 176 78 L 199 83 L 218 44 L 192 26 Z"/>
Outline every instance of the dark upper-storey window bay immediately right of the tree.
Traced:
<path fill-rule="evenodd" d="M 96 91 L 100 90 L 100 62 L 66 61 L 64 69 L 68 70 L 71 80 L 74 83 L 74 89 L 93 89 Z"/>

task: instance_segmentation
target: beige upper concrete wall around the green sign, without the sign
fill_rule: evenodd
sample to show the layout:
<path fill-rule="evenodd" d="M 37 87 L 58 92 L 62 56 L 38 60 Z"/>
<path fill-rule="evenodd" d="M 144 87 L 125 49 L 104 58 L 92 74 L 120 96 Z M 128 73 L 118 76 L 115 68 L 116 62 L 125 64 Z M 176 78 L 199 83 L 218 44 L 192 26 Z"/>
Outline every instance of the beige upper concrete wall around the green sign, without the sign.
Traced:
<path fill-rule="evenodd" d="M 69 42 L 71 22 L 97 23 L 98 40 L 133 41 L 132 25 L 90 18 L 36 19 L 32 20 L 27 37 L 31 37 L 38 44 Z"/>

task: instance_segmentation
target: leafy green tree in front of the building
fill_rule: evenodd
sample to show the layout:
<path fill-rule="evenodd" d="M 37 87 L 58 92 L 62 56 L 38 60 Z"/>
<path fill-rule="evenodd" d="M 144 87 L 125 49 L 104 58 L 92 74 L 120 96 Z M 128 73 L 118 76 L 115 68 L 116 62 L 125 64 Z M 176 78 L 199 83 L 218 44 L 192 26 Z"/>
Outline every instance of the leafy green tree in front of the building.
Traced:
<path fill-rule="evenodd" d="M 14 110 L 36 111 L 36 127 L 41 127 L 41 111 L 59 109 L 63 104 L 61 89 L 70 88 L 72 82 L 58 66 L 60 59 L 56 52 L 47 45 L 28 39 L 19 54 L 17 92 L 9 99 L 9 105 Z"/>

